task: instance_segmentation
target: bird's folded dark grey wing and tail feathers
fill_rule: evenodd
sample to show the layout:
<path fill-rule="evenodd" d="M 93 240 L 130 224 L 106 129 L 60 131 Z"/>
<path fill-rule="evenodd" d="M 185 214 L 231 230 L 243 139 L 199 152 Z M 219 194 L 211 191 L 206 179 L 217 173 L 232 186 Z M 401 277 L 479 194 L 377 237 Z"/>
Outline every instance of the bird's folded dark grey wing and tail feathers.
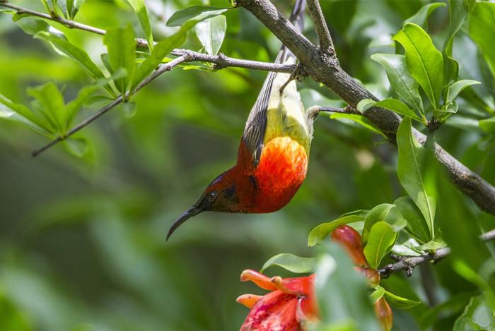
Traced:
<path fill-rule="evenodd" d="M 303 30 L 304 25 L 304 8 L 305 0 L 296 0 L 291 17 L 289 18 L 291 23 L 300 31 Z M 294 64 L 295 62 L 296 56 L 294 56 L 287 47 L 282 45 L 279 55 L 276 56 L 275 63 Z M 272 96 L 276 75 L 277 73 L 270 72 L 264 80 L 260 95 L 258 95 L 254 106 L 252 106 L 248 121 L 244 128 L 243 142 L 250 152 L 252 165 L 254 167 L 260 162 L 261 152 L 263 150 L 264 131 L 267 128 L 267 109 L 270 102 L 270 96 Z M 279 93 L 274 93 L 273 95 L 278 96 Z"/>

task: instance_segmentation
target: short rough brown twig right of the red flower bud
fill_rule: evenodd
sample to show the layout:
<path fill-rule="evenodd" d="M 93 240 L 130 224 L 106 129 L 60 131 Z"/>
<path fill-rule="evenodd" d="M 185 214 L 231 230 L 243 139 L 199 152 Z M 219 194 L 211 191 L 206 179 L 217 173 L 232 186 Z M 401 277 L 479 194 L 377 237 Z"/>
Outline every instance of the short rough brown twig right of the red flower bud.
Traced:
<path fill-rule="evenodd" d="M 479 236 L 479 238 L 482 239 L 483 241 L 495 240 L 495 229 L 482 234 L 481 236 Z M 412 275 L 414 267 L 417 267 L 417 265 L 421 265 L 421 263 L 430 262 L 430 261 L 433 263 L 437 263 L 438 261 L 442 260 L 449 254 L 450 254 L 450 248 L 445 247 L 445 248 L 437 249 L 433 253 L 424 254 L 420 256 L 394 255 L 395 259 L 398 261 L 396 263 L 390 263 L 388 265 L 385 265 L 385 267 L 383 267 L 383 269 L 378 270 L 378 272 L 380 272 L 380 277 L 384 279 L 390 277 L 390 275 L 392 275 L 393 272 L 406 270 L 407 276 L 409 277 Z"/>

